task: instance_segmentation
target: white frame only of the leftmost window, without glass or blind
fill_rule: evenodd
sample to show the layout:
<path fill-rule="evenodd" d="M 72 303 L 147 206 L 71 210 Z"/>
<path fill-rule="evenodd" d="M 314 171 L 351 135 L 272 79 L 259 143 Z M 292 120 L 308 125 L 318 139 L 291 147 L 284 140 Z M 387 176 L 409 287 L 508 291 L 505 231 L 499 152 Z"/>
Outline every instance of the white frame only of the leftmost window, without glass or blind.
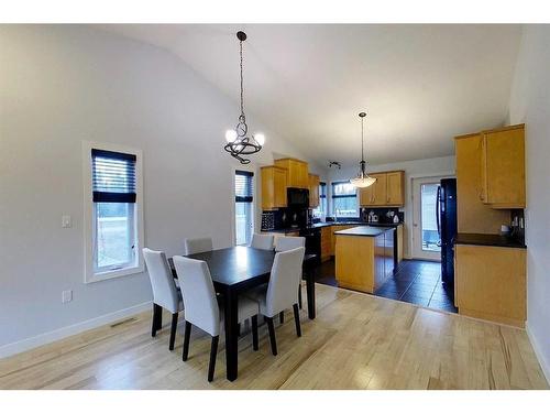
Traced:
<path fill-rule="evenodd" d="M 133 238 L 135 260 L 133 265 L 121 269 L 96 270 L 96 205 L 94 203 L 91 150 L 105 150 L 135 155 L 135 203 L 133 207 Z M 142 273 L 144 271 L 143 254 L 143 154 L 135 148 L 105 142 L 82 141 L 82 177 L 84 177 L 84 282 L 86 284 L 120 276 Z"/>

